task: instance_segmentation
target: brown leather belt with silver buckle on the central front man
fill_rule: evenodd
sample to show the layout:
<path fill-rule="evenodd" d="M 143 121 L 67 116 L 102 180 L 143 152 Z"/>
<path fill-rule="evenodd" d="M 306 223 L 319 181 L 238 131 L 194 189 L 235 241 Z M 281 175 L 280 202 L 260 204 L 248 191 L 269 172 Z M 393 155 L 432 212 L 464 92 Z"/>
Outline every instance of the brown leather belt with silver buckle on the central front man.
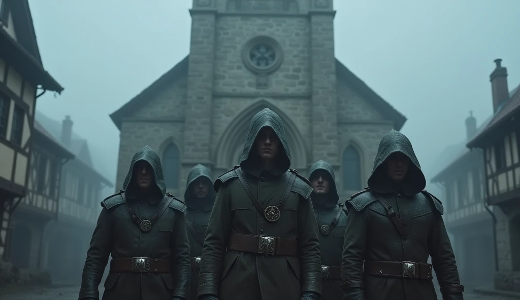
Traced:
<path fill-rule="evenodd" d="M 256 254 L 298 256 L 298 242 L 266 235 L 231 234 L 228 250 Z"/>

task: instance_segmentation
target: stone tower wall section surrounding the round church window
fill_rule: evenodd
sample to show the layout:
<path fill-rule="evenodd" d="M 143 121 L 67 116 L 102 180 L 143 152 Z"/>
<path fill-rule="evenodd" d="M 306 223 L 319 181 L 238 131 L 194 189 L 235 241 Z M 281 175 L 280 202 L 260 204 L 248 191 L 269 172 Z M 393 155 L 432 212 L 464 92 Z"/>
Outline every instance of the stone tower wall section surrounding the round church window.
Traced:
<path fill-rule="evenodd" d="M 219 17 L 216 23 L 216 93 L 257 93 L 256 75 L 242 62 L 242 49 L 257 36 L 274 38 L 283 51 L 280 68 L 269 76 L 262 92 L 310 92 L 309 23 L 304 17 Z"/>

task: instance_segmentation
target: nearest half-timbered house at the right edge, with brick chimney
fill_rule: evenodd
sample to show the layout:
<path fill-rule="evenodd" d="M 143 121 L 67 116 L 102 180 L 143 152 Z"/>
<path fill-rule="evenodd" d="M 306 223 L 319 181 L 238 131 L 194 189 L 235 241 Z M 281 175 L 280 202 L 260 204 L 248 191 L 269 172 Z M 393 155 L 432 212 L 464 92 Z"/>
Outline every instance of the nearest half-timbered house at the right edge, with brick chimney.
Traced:
<path fill-rule="evenodd" d="M 495 206 L 495 288 L 520 292 L 520 89 L 510 97 L 501 60 L 490 75 L 493 117 L 467 147 L 482 152 L 486 203 Z"/>

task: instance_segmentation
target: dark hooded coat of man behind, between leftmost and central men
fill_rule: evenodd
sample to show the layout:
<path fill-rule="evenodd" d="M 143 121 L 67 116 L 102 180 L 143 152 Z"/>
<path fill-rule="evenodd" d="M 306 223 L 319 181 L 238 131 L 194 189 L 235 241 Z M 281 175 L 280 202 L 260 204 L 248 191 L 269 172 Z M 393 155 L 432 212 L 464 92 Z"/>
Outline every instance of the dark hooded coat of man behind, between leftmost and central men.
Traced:
<path fill-rule="evenodd" d="M 208 194 L 204 199 L 194 197 L 192 192 L 192 183 L 199 178 L 206 179 L 210 185 Z M 202 255 L 202 244 L 204 243 L 207 222 L 210 220 L 210 214 L 216 196 L 216 193 L 213 190 L 212 185 L 213 179 L 211 176 L 210 169 L 202 165 L 197 165 L 193 167 L 188 173 L 188 179 L 186 181 L 186 192 L 184 193 L 184 200 L 186 202 L 186 206 L 188 207 L 188 209 L 186 210 L 186 221 L 188 222 L 186 226 L 189 226 L 189 223 L 191 223 L 191 226 L 195 231 L 194 233 L 192 233 L 191 230 L 188 230 L 188 239 L 190 241 L 190 255 L 192 260 L 194 257 L 200 257 Z M 199 271 L 200 269 L 197 267 L 191 269 L 191 300 L 198 300 L 197 287 L 199 285 Z"/>

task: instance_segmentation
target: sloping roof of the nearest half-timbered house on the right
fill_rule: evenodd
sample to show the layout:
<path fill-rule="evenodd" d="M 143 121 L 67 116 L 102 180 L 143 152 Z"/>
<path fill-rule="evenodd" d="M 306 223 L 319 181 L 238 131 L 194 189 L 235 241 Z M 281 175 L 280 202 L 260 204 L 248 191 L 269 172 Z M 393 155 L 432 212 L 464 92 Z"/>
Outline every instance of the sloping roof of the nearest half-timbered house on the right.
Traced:
<path fill-rule="evenodd" d="M 493 135 L 499 126 L 506 124 L 512 116 L 520 113 L 520 88 L 516 88 L 515 92 L 510 96 L 510 99 L 500 107 L 489 124 L 482 130 L 482 132 L 475 135 L 475 137 L 467 143 L 467 147 L 475 148 L 482 147 L 483 142 Z"/>

